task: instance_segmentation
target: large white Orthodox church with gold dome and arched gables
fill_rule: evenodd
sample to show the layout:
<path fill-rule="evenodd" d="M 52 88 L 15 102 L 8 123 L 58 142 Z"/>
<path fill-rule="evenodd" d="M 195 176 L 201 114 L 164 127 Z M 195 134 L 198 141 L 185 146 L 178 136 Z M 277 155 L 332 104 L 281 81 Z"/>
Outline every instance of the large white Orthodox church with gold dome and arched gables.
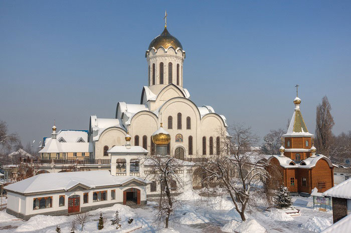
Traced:
<path fill-rule="evenodd" d="M 131 144 L 153 154 L 151 135 L 163 122 L 171 141 L 168 154 L 189 160 L 216 154 L 220 144 L 218 130 L 227 127 L 226 118 L 211 106 L 198 107 L 183 87 L 183 63 L 186 52 L 181 42 L 164 27 L 145 52 L 147 86 L 142 87 L 139 104 L 118 102 L 115 118 L 90 117 L 91 159 L 109 159 L 107 151 L 124 145 L 129 130 Z"/>

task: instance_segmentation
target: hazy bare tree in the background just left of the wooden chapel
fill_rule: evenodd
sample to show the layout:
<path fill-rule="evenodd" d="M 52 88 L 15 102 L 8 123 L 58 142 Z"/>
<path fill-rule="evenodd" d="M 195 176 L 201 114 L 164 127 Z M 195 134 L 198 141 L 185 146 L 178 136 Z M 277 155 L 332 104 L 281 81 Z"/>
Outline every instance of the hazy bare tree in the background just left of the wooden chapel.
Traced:
<path fill-rule="evenodd" d="M 279 147 L 281 146 L 281 136 L 284 134 L 283 129 L 271 129 L 270 133 L 264 136 L 264 143 L 261 146 L 263 154 L 279 154 Z"/>

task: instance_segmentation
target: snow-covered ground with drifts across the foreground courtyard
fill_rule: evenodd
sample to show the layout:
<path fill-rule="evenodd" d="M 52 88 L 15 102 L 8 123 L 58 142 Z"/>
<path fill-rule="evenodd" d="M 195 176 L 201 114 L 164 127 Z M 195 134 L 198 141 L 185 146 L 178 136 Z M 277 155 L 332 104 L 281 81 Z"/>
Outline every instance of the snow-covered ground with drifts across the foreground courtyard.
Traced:
<path fill-rule="evenodd" d="M 242 233 L 260 233 L 262 225 L 269 233 L 281 232 L 320 232 L 322 229 L 332 223 L 332 212 L 323 212 L 313 210 L 312 197 L 293 197 L 307 201 L 307 205 L 294 206 L 301 211 L 300 216 L 289 216 L 279 209 L 273 209 L 271 212 L 265 212 L 263 206 L 248 209 L 246 218 L 250 221 L 246 225 L 241 225 L 240 216 L 233 210 L 233 204 L 229 199 L 220 197 L 206 198 L 200 197 L 197 193 L 188 191 L 180 196 L 182 205 L 171 215 L 169 224 L 174 230 L 160 230 L 162 225 L 154 223 L 157 203 L 148 201 L 147 205 L 129 207 L 116 204 L 111 207 L 101 208 L 90 211 L 91 220 L 85 225 L 85 229 L 75 232 L 234 232 Z M 298 202 L 299 202 L 298 201 Z M 301 202 L 301 201 L 300 201 Z M 116 230 L 110 224 L 116 209 L 119 210 L 122 217 L 121 229 Z M 99 213 L 107 217 L 107 221 L 102 230 L 97 229 Z M 131 224 L 128 224 L 129 217 L 134 218 Z M 71 216 L 44 216 L 37 215 L 28 221 L 15 218 L 7 214 L 4 210 L 0 211 L 0 232 L 35 232 L 35 233 L 56 233 L 56 225 L 59 224 L 61 232 L 70 232 L 70 222 L 74 215 Z M 257 222 L 256 222 L 257 221 Z M 250 227 L 255 231 L 247 231 Z M 261 230 L 260 230 L 261 229 Z"/>

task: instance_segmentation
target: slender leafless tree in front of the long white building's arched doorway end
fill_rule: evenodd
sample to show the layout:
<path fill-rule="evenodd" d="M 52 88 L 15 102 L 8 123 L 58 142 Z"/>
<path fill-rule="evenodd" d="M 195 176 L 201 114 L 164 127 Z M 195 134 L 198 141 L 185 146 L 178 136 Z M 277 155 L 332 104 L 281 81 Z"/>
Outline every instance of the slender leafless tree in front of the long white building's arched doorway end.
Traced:
<path fill-rule="evenodd" d="M 145 179 L 155 181 L 161 186 L 156 220 L 164 221 L 165 228 L 168 228 L 169 216 L 177 206 L 177 199 L 172 195 L 172 191 L 183 189 L 185 185 L 184 178 L 179 172 L 184 163 L 186 161 L 173 156 L 161 155 L 150 155 L 142 161 L 142 164 L 152 166 L 152 171 Z"/>

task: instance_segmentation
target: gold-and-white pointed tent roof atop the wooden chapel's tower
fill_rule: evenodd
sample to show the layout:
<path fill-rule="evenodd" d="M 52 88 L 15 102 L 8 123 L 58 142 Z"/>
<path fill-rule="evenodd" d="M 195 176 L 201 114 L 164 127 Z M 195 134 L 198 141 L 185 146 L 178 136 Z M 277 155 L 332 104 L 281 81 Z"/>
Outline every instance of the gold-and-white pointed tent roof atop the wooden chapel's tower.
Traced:
<path fill-rule="evenodd" d="M 308 132 L 299 108 L 292 114 L 288 131 L 283 136 L 313 136 Z"/>

